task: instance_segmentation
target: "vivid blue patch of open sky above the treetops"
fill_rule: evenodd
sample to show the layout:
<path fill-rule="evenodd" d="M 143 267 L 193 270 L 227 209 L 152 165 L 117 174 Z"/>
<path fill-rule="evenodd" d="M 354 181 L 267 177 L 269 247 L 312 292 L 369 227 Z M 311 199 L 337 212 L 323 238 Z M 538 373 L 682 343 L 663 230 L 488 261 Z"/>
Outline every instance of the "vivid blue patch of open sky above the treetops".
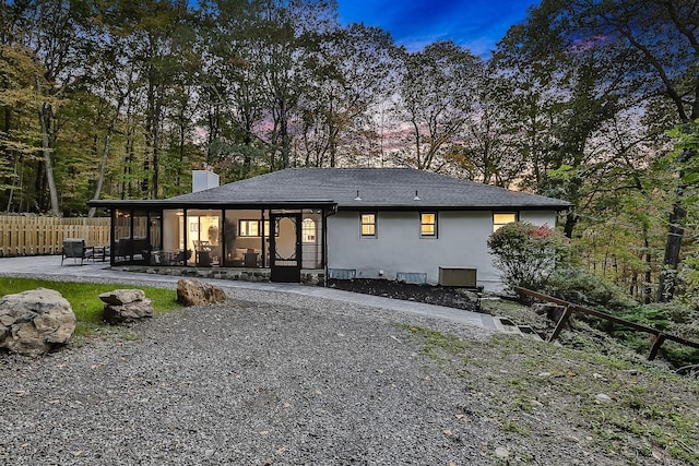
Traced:
<path fill-rule="evenodd" d="M 340 23 L 380 26 L 408 51 L 451 39 L 487 57 L 536 0 L 339 0 Z"/>

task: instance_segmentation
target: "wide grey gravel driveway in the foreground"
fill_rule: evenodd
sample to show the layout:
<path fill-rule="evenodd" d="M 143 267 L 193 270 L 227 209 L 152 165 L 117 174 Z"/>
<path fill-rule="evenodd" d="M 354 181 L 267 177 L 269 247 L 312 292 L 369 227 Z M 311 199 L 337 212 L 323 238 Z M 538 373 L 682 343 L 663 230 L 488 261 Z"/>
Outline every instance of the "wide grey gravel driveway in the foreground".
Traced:
<path fill-rule="evenodd" d="M 0 357 L 0 464 L 493 464 L 497 435 L 398 322 L 487 331 L 319 298 L 229 289 L 78 348 Z"/>

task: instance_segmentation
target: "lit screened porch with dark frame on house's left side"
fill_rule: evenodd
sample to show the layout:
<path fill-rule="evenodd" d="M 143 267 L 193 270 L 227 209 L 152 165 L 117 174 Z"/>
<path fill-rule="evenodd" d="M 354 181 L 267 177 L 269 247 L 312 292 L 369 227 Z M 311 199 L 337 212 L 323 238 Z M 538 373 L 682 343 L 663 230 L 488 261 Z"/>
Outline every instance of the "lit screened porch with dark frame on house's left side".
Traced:
<path fill-rule="evenodd" d="M 91 202 L 110 212 L 112 266 L 264 270 L 273 282 L 297 283 L 301 270 L 325 268 L 333 203 L 206 204 Z"/>

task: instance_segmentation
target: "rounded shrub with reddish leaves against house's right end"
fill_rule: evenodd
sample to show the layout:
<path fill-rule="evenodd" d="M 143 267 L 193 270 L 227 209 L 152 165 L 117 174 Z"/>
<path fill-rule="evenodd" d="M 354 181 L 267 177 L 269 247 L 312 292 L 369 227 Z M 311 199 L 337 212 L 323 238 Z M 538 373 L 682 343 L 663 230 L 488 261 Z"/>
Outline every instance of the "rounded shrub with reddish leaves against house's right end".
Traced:
<path fill-rule="evenodd" d="M 487 244 L 510 288 L 541 289 L 568 258 L 568 241 L 548 225 L 508 224 L 490 235 Z"/>

